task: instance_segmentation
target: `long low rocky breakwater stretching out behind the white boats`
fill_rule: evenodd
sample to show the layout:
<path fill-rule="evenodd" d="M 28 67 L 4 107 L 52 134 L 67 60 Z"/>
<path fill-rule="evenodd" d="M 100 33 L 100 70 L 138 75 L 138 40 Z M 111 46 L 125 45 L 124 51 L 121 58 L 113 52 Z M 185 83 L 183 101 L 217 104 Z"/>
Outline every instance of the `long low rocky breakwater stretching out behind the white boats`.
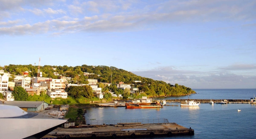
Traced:
<path fill-rule="evenodd" d="M 187 99 L 170 99 L 166 100 L 167 102 L 184 102 Z M 196 102 L 210 102 L 211 99 L 191 99 Z M 212 99 L 213 102 L 221 102 L 221 101 L 226 101 L 226 102 L 250 102 L 249 99 Z"/>

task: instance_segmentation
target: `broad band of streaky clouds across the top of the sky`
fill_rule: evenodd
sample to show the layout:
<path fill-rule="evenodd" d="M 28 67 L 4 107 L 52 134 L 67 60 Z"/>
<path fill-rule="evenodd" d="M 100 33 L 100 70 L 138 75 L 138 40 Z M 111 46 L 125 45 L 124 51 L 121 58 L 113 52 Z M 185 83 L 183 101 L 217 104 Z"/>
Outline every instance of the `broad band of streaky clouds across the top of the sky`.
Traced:
<path fill-rule="evenodd" d="M 0 0 L 0 34 L 127 32 L 156 23 L 250 21 L 255 20 L 255 6 L 256 1 L 251 0 Z M 12 20 L 14 17 L 19 19 Z M 34 20 L 37 18 L 40 21 Z M 17 20 L 20 22 L 9 24 Z"/>

